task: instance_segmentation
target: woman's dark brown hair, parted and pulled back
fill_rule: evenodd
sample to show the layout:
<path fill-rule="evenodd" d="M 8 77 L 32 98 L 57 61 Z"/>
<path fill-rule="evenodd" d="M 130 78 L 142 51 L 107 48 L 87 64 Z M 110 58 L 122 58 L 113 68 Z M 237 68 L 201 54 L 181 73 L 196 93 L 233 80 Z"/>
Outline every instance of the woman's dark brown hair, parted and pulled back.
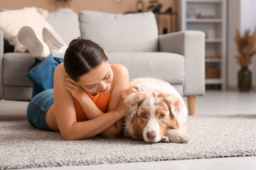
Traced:
<path fill-rule="evenodd" d="M 108 61 L 108 58 L 102 47 L 91 40 L 74 39 L 65 51 L 65 72 L 74 81 L 78 81 L 79 77 L 100 66 L 104 61 Z"/>

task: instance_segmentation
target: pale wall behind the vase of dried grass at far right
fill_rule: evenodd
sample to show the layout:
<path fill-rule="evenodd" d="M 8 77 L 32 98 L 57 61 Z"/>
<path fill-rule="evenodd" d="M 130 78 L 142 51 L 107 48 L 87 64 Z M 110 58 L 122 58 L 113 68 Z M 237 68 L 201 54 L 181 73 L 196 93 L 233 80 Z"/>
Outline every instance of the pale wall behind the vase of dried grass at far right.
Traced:
<path fill-rule="evenodd" d="M 238 55 L 238 50 L 235 44 L 235 29 L 239 29 L 243 35 L 247 29 L 251 30 L 251 33 L 255 31 L 256 19 L 255 19 L 255 0 L 229 0 L 228 6 L 228 74 L 227 84 L 228 89 L 238 89 L 238 71 L 240 66 L 235 58 Z M 250 64 L 250 70 L 252 71 L 252 89 L 256 86 L 256 58 L 252 57 L 252 64 Z"/>

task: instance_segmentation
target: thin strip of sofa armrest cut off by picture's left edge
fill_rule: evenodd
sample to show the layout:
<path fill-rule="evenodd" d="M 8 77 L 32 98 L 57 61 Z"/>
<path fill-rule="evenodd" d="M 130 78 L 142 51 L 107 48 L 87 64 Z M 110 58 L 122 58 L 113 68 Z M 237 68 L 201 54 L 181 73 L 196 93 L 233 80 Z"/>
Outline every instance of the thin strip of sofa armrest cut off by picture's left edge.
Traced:
<path fill-rule="evenodd" d="M 0 99 L 4 98 L 3 57 L 4 57 L 4 32 L 0 30 Z"/>

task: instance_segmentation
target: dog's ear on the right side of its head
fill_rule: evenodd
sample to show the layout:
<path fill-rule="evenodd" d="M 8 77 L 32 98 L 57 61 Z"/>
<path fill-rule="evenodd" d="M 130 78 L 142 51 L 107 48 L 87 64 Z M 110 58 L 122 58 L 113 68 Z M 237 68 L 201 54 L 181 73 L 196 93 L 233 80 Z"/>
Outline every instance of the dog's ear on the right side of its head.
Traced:
<path fill-rule="evenodd" d="M 174 94 L 159 94 L 159 96 L 163 97 L 164 101 L 167 103 L 171 118 L 178 118 L 178 114 L 183 109 L 181 98 L 178 98 L 178 96 Z"/>

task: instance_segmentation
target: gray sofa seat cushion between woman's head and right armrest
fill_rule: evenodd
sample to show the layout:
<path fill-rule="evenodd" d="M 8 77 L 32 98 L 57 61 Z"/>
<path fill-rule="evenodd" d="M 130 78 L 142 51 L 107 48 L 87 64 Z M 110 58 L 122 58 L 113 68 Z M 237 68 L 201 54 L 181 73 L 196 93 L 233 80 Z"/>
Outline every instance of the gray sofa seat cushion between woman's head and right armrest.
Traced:
<path fill-rule="evenodd" d="M 183 84 L 185 64 L 182 55 L 170 52 L 108 52 L 110 63 L 124 64 L 130 79 L 156 77 L 171 84 Z"/>

